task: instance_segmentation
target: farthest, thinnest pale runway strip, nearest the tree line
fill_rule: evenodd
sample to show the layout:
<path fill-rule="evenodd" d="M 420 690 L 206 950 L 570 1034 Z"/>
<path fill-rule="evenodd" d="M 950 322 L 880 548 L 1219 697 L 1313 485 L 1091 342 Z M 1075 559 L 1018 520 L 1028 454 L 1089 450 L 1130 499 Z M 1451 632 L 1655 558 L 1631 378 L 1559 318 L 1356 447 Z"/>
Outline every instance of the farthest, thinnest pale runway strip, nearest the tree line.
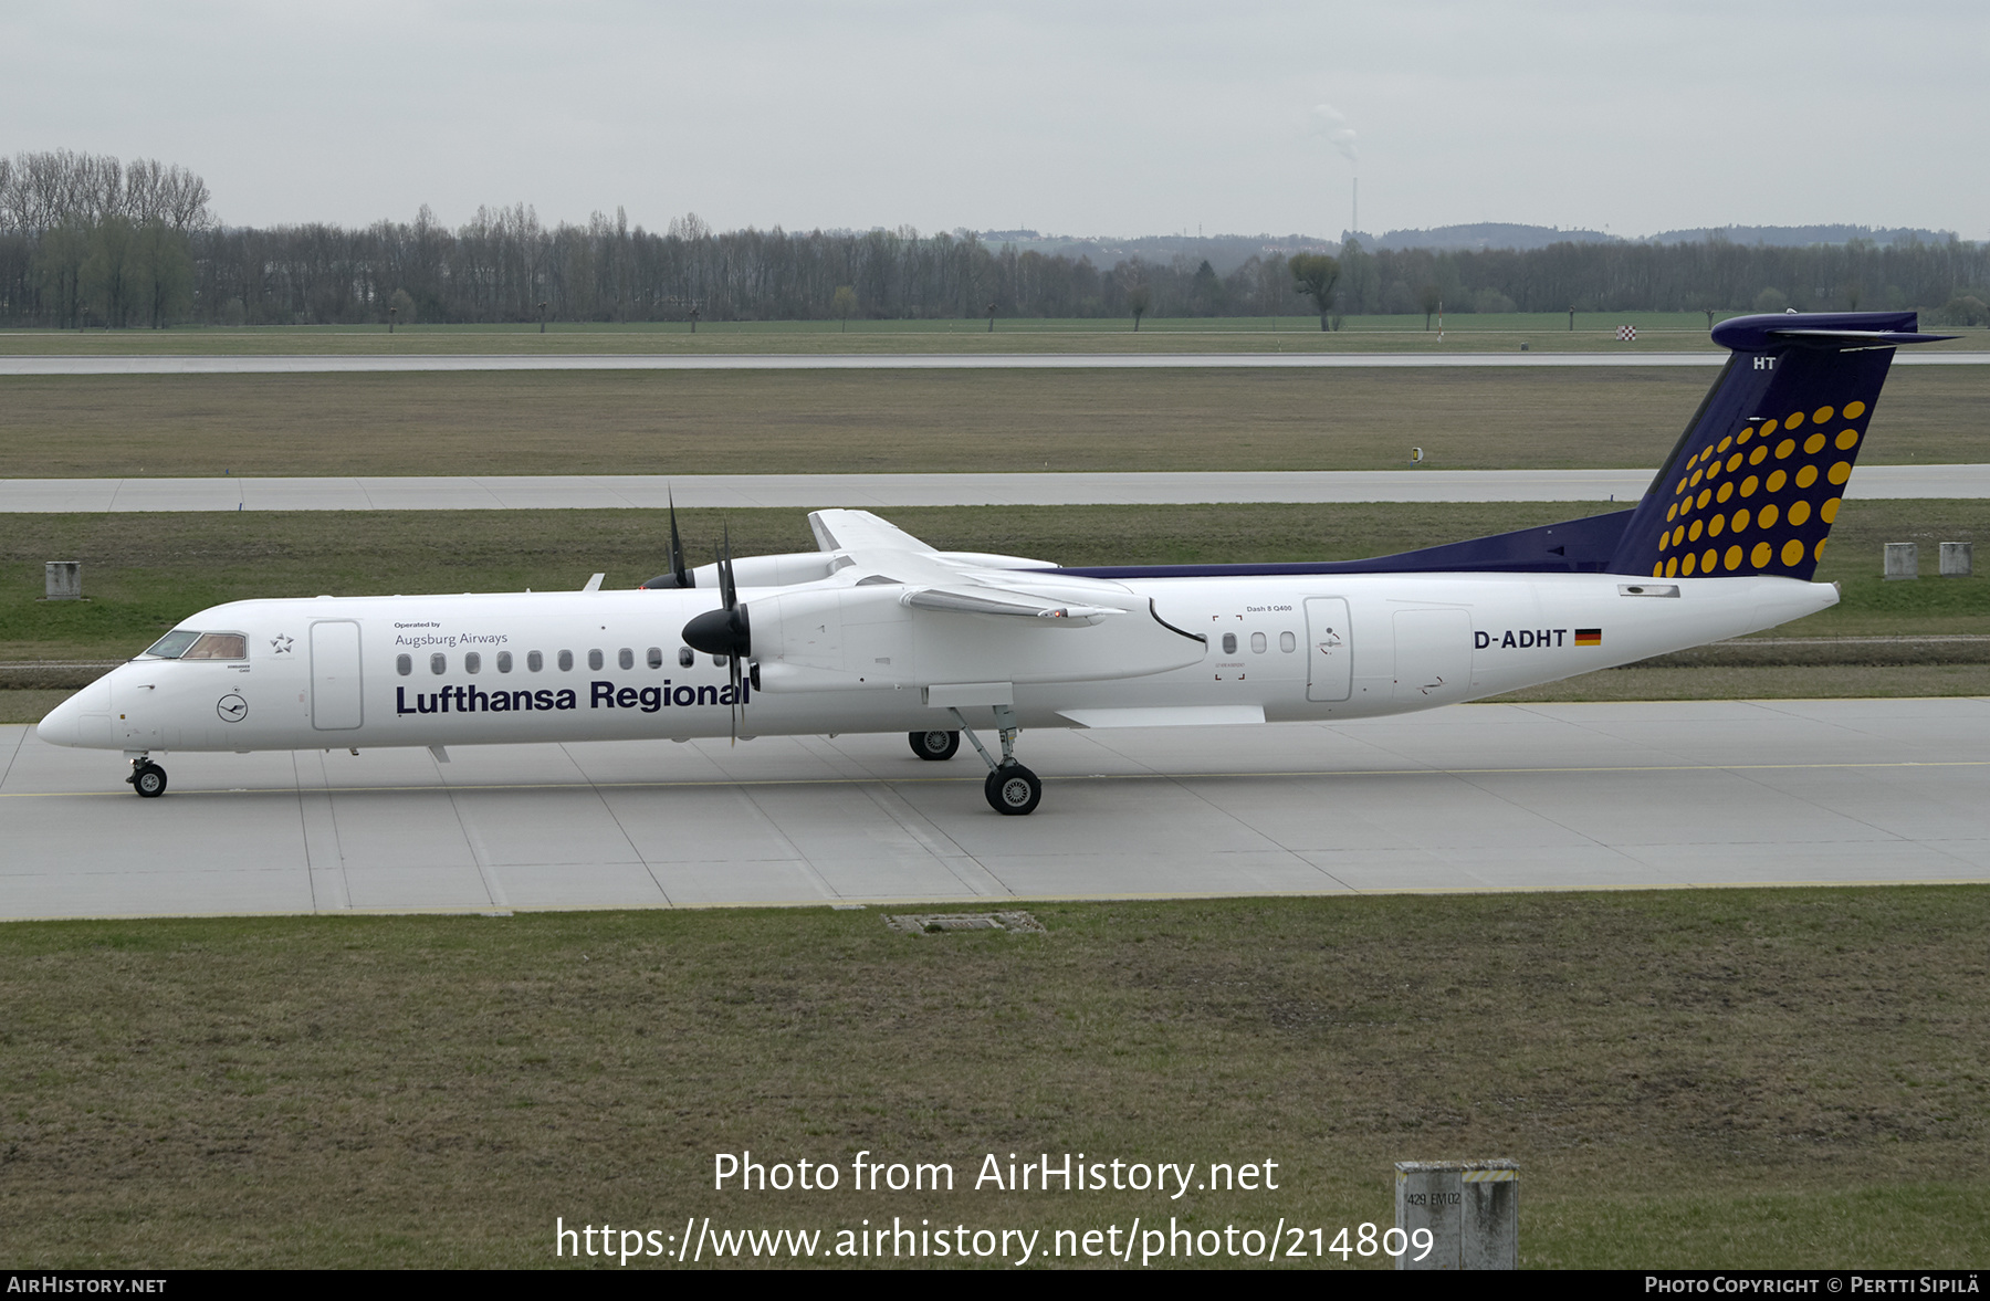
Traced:
<path fill-rule="evenodd" d="M 876 352 L 876 354 L 376 354 L 376 356 L 0 356 L 32 374 L 370 374 L 432 370 L 1371 370 L 1421 366 L 1721 366 L 1725 352 Z M 1902 354 L 1894 366 L 1984 366 L 1990 352 Z"/>

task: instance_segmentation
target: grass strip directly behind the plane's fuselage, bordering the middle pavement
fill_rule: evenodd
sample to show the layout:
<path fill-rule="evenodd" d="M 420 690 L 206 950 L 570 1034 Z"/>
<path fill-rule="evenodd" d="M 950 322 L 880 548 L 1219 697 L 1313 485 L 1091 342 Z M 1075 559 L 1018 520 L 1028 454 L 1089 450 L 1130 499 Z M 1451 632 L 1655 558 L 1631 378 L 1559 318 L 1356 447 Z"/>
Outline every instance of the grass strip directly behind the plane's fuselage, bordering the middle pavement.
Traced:
<path fill-rule="evenodd" d="M 1610 509 L 1596 503 L 1588 511 Z M 1357 559 L 1582 515 L 1580 503 L 905 507 L 945 551 L 1061 565 Z M 679 511 L 693 557 L 814 551 L 798 509 Z M 1845 601 L 1783 635 L 1990 633 L 1990 577 L 1887 583 L 1881 545 L 1986 541 L 1980 501 L 1849 501 L 1819 567 Z M 245 597 L 635 587 L 665 567 L 661 511 L 269 511 L 0 517 L 0 660 L 123 658 L 189 613 Z M 42 563 L 80 559 L 80 603 L 42 601 Z"/>

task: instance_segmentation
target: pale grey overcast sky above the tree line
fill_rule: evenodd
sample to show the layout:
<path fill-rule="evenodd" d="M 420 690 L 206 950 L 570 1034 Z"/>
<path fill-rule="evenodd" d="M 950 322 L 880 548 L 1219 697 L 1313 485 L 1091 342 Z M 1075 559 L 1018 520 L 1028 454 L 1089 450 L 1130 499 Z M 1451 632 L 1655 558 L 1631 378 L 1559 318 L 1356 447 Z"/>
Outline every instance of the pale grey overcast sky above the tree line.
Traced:
<path fill-rule="evenodd" d="M 1337 235 L 1359 173 L 1375 233 L 1990 237 L 1980 0 L 6 0 L 0 48 L 0 153 L 183 163 L 237 225 Z"/>

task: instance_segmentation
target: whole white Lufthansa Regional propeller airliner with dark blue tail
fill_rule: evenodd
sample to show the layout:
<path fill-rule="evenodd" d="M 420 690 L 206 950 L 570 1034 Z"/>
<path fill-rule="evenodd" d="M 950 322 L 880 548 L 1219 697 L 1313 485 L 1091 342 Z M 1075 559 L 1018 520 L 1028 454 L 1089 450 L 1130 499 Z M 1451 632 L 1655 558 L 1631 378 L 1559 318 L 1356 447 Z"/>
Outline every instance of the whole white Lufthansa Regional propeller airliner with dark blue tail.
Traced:
<path fill-rule="evenodd" d="M 635 591 L 235 601 L 60 704 L 40 738 L 167 750 L 965 734 L 1029 814 L 1025 728 L 1367 718 L 1739 637 L 1837 601 L 1811 583 L 1912 312 L 1743 316 L 1666 467 L 1626 511 L 1373 561 L 1059 569 L 935 551 L 816 511 L 820 551 Z M 1598 412 L 1598 418 L 1608 418 Z M 999 754 L 975 728 L 995 734 Z"/>

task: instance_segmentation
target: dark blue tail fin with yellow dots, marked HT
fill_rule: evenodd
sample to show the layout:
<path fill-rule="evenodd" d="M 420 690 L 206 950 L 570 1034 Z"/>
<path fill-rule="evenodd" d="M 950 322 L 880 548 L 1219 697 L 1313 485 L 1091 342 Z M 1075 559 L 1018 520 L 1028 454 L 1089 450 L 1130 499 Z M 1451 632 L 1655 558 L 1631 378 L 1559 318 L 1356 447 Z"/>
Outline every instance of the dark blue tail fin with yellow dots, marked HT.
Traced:
<path fill-rule="evenodd" d="M 1914 312 L 1737 316 L 1727 368 L 1646 489 L 1608 573 L 1809 581 L 1839 515 L 1892 350 Z"/>

